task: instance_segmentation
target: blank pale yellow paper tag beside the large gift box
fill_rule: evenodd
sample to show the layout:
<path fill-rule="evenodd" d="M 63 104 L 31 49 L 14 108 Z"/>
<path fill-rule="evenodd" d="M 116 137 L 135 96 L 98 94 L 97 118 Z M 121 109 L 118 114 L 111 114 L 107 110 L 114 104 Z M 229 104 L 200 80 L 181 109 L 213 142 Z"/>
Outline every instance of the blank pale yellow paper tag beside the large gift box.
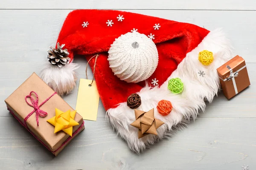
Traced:
<path fill-rule="evenodd" d="M 89 87 L 91 82 L 92 80 L 89 79 L 80 79 L 76 111 L 83 119 L 96 121 L 99 107 L 99 92 L 95 81 Z"/>

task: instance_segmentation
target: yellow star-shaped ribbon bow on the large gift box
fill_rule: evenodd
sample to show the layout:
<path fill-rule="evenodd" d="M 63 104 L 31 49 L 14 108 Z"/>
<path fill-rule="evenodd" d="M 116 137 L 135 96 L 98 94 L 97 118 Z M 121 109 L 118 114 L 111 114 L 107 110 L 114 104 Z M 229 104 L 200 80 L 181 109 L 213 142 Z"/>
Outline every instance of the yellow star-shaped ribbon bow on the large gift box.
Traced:
<path fill-rule="evenodd" d="M 63 112 L 55 108 L 55 116 L 48 119 L 47 122 L 55 126 L 54 133 L 63 130 L 68 135 L 72 136 L 73 126 L 79 125 L 78 122 L 74 120 L 76 111 L 66 111 Z"/>

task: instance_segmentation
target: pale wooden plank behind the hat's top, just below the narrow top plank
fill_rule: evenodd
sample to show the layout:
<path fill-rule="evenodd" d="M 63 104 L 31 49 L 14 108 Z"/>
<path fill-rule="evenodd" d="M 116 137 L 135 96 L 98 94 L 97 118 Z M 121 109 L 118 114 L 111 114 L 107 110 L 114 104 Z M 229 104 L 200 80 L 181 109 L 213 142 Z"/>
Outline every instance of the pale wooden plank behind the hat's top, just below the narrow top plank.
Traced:
<path fill-rule="evenodd" d="M 192 23 L 209 30 L 223 28 L 235 52 L 256 62 L 256 11 L 127 10 Z M 70 10 L 0 10 L 0 62 L 47 62 L 46 51 L 55 45 Z"/>

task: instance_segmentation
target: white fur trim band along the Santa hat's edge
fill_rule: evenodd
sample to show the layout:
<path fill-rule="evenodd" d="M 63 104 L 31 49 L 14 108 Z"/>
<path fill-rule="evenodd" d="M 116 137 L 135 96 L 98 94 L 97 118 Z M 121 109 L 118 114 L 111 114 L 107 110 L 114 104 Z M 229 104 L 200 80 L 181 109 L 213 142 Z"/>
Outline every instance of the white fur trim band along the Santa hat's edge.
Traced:
<path fill-rule="evenodd" d="M 212 51 L 214 54 L 214 60 L 209 66 L 204 66 L 198 61 L 198 53 L 203 50 Z M 131 150 L 135 152 L 144 150 L 157 140 L 170 136 L 174 133 L 174 129 L 182 127 L 191 118 L 195 119 L 198 111 L 204 111 L 205 100 L 212 102 L 213 97 L 217 95 L 220 89 L 216 69 L 232 57 L 230 42 L 225 38 L 221 29 L 211 31 L 198 47 L 186 54 L 177 69 L 160 88 L 145 87 L 137 93 L 142 100 L 142 105 L 138 109 L 149 111 L 155 108 L 155 118 L 165 122 L 157 129 L 157 136 L 149 134 L 138 139 L 138 129 L 130 125 L 135 120 L 134 110 L 128 108 L 126 102 L 107 111 L 108 121 L 117 130 L 117 133 L 127 141 Z M 204 77 L 200 77 L 198 71 L 204 71 Z M 169 79 L 176 77 L 180 78 L 184 84 L 182 94 L 172 94 L 167 88 Z M 162 99 L 172 102 L 173 110 L 167 116 L 157 113 L 157 103 Z"/>

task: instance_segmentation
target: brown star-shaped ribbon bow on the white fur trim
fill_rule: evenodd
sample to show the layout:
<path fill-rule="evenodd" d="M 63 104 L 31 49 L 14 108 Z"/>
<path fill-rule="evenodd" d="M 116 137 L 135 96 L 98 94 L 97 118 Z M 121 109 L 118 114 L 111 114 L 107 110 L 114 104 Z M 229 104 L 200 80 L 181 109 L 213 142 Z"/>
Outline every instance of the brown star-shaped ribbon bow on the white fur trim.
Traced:
<path fill-rule="evenodd" d="M 154 108 L 148 112 L 134 109 L 136 120 L 131 123 L 132 126 L 139 129 L 138 138 L 148 134 L 157 135 L 157 128 L 164 124 L 159 119 L 154 118 Z"/>

